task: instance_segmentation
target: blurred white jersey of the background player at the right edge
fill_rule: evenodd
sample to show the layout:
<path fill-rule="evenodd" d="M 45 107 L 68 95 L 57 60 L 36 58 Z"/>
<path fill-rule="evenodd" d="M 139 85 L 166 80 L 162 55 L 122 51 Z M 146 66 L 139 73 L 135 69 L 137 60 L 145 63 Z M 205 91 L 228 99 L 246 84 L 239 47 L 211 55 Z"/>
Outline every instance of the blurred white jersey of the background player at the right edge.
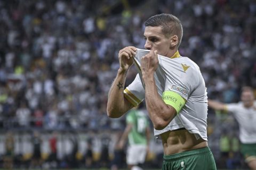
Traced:
<path fill-rule="evenodd" d="M 239 140 L 244 144 L 256 143 L 256 109 L 246 108 L 242 101 L 226 104 L 227 110 L 234 114 L 239 124 Z M 254 101 L 256 106 L 256 101 Z"/>

